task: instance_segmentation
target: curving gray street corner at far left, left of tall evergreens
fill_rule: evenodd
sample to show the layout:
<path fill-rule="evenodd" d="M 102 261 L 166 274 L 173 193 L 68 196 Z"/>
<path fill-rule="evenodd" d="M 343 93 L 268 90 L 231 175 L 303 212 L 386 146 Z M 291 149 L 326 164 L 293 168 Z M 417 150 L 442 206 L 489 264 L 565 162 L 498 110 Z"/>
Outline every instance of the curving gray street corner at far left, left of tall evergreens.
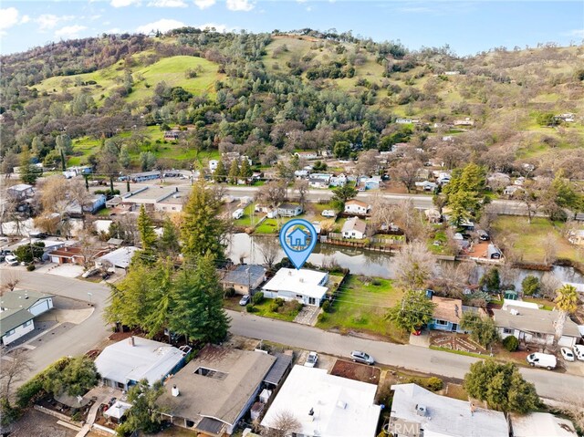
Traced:
<path fill-rule="evenodd" d="M 5 269 L 0 270 L 0 275 L 3 273 L 5 273 Z M 49 364 L 61 357 L 84 354 L 89 349 L 95 347 L 102 339 L 110 335 L 111 331 L 105 326 L 102 318 L 103 308 L 106 306 L 106 299 L 110 295 L 110 289 L 107 286 L 68 277 L 43 275 L 20 270 L 18 270 L 17 275 L 20 278 L 19 288 L 28 288 L 87 302 L 91 299 L 91 303 L 95 307 L 95 311 L 93 311 L 91 316 L 79 325 L 59 333 L 57 337 L 47 338 L 47 336 L 51 335 L 50 333 L 41 337 L 47 341 L 47 344 L 37 346 L 36 349 L 30 350 L 30 356 L 33 362 L 33 370 L 30 376 L 47 368 Z M 89 297 L 88 293 L 91 293 L 91 297 Z M 16 386 L 18 385 L 20 384 L 16 383 Z"/>

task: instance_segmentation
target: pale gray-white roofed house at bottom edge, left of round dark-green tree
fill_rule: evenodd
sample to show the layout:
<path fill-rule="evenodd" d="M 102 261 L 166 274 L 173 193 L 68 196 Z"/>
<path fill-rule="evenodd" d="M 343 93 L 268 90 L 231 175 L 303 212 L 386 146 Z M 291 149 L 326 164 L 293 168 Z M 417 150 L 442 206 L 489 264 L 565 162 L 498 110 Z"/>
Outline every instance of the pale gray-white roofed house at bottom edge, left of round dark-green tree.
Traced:
<path fill-rule="evenodd" d="M 390 432 L 395 437 L 507 437 L 505 414 L 440 396 L 416 384 L 392 385 Z"/>

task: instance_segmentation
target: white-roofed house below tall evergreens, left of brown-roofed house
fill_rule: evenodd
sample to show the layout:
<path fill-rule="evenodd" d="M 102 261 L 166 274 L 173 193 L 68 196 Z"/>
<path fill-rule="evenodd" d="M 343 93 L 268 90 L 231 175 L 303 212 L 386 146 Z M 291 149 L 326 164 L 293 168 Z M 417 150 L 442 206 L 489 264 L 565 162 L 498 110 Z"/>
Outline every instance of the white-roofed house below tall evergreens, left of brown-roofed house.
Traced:
<path fill-rule="evenodd" d="M 186 348 L 182 350 L 160 341 L 130 337 L 103 349 L 95 365 L 105 385 L 128 390 L 139 380 L 146 379 L 152 385 L 176 373 L 190 351 Z"/>

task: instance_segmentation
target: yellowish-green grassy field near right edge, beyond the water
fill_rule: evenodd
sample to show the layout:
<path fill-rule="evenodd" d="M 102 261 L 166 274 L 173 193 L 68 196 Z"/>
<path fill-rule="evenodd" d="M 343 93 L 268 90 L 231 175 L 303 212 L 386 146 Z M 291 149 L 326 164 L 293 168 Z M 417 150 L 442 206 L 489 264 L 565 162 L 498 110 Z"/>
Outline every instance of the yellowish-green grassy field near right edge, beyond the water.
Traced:
<path fill-rule="evenodd" d="M 527 217 L 501 215 L 495 221 L 493 228 L 495 235 L 508 235 L 510 237 L 514 250 L 523 261 L 543 263 L 544 242 L 547 235 L 550 234 L 554 239 L 558 258 L 581 262 L 582 255 L 579 254 L 578 246 L 570 245 L 560 233 L 562 226 L 561 223 L 554 223 L 543 217 L 533 218 L 531 224 L 527 224 Z"/>

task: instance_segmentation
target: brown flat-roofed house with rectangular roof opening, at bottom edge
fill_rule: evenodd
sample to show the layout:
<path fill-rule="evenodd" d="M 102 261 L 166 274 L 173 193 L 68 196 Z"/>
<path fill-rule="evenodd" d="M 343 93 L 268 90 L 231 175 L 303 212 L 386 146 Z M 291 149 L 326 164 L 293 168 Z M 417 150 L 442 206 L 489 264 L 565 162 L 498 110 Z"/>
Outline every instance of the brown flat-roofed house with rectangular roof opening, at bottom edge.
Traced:
<path fill-rule="evenodd" d="M 199 435 L 218 437 L 234 432 L 258 397 L 276 357 L 261 351 L 208 345 L 166 380 L 163 419 Z"/>

